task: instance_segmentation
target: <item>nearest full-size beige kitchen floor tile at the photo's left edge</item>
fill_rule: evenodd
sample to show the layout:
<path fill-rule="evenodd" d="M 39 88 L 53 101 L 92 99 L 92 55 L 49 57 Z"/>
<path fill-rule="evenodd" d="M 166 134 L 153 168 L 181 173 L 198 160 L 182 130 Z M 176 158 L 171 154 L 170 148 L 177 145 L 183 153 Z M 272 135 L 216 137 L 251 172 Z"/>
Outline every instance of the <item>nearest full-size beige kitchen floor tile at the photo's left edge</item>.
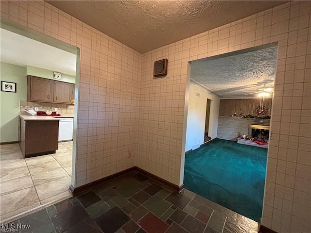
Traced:
<path fill-rule="evenodd" d="M 3 195 L 0 202 L 0 215 L 8 214 L 37 202 L 39 199 L 34 187 Z"/>

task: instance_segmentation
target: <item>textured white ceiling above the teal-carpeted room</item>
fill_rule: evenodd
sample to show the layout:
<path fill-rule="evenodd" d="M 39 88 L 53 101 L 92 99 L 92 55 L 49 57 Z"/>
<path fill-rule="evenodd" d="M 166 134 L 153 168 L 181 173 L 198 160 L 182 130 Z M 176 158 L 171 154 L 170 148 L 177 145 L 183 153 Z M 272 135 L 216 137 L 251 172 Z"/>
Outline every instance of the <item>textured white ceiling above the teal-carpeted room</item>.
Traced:
<path fill-rule="evenodd" d="M 190 78 L 221 98 L 255 97 L 274 86 L 276 73 L 277 47 L 260 48 L 191 61 Z"/>

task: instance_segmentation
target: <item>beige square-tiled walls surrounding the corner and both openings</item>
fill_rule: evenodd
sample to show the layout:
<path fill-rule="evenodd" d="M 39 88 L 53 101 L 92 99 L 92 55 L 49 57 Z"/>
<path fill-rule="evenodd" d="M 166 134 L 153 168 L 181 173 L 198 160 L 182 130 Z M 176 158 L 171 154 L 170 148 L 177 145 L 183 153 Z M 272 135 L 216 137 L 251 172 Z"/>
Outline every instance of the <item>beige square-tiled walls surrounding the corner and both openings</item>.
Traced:
<path fill-rule="evenodd" d="M 183 183 L 188 61 L 278 41 L 262 224 L 311 232 L 310 1 L 291 1 L 142 55 L 44 1 L 0 4 L 1 17 L 81 48 L 76 187 L 134 165 Z M 154 61 L 163 58 L 168 75 L 154 79 Z"/>

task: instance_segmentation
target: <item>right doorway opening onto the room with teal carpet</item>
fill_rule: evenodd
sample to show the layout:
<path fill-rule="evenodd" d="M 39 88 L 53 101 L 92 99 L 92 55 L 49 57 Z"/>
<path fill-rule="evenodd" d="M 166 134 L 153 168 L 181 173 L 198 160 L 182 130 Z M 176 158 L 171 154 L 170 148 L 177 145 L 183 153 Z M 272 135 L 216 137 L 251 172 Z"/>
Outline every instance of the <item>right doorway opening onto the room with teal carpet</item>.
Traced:
<path fill-rule="evenodd" d="M 184 185 L 191 191 L 258 222 L 262 211 L 267 149 L 250 147 L 252 150 L 244 150 L 250 148 L 244 145 L 240 146 L 237 143 L 237 137 L 240 131 L 242 135 L 248 134 L 248 126 L 253 124 L 250 122 L 256 121 L 256 124 L 264 124 L 265 119 L 269 118 L 269 116 L 257 114 L 256 109 L 262 108 L 261 105 L 258 106 L 259 104 L 257 104 L 260 102 L 258 94 L 273 92 L 276 55 L 277 43 L 271 43 L 191 61 L 188 66 L 190 69 L 188 71 L 190 91 L 185 151 L 188 151 L 187 143 L 190 140 L 187 141 L 187 139 L 190 138 L 188 133 L 191 133 L 188 130 L 188 123 L 196 122 L 196 124 L 200 124 L 198 122 L 199 118 L 193 117 L 197 116 L 200 110 L 191 108 L 191 102 L 197 100 L 194 95 L 191 95 L 191 89 L 193 88 L 193 92 L 201 89 L 205 90 L 206 95 L 213 95 L 213 99 L 207 98 L 213 101 L 204 100 L 207 107 L 203 110 L 206 114 L 204 133 L 211 136 L 212 140 L 205 145 L 200 145 L 200 148 L 196 147 L 188 151 L 185 155 Z M 234 106 L 228 104 L 222 107 L 218 104 L 218 109 L 215 111 L 213 102 L 221 102 L 221 100 L 228 100 L 226 103 L 236 102 L 237 104 Z M 252 102 L 256 106 L 239 104 L 244 102 Z M 266 107 L 267 105 L 264 109 Z M 271 106 L 268 106 L 268 111 L 270 110 Z M 221 115 L 220 111 L 222 111 L 222 114 L 225 112 L 225 116 Z M 217 121 L 211 119 L 215 112 L 217 112 Z M 209 121 L 208 128 L 207 120 Z M 269 121 L 269 124 L 270 119 L 267 119 L 267 121 Z M 225 127 L 222 127 L 222 125 Z M 245 125 L 245 127 L 242 125 Z M 216 128 L 216 135 L 210 134 L 211 126 Z M 225 128 L 224 131 L 222 131 L 223 128 Z M 245 133 L 243 132 L 244 128 Z M 222 138 L 221 135 L 224 134 L 227 138 L 220 139 Z M 232 134 L 235 136 L 229 138 L 228 136 Z M 191 136 L 191 140 L 197 142 L 200 134 L 193 133 Z M 233 153 L 235 151 L 237 155 Z M 253 161 L 254 157 L 260 158 L 260 162 L 259 160 Z M 229 161 L 232 161 L 232 163 Z M 254 166 L 256 169 L 247 167 L 249 165 L 256 165 Z M 239 171 L 244 173 L 240 174 Z M 230 175 L 226 176 L 226 174 Z M 232 177 L 236 178 L 229 181 Z M 250 179 L 244 180 L 244 178 Z M 246 186 L 249 188 L 245 190 L 252 190 L 249 195 L 242 191 L 244 189 L 241 187 Z M 240 197 L 238 198 L 240 200 L 236 199 L 230 203 L 230 200 L 234 197 Z M 241 197 L 243 198 L 241 199 Z M 245 200 L 247 200 L 246 204 Z M 241 202 L 241 204 L 238 202 Z"/>

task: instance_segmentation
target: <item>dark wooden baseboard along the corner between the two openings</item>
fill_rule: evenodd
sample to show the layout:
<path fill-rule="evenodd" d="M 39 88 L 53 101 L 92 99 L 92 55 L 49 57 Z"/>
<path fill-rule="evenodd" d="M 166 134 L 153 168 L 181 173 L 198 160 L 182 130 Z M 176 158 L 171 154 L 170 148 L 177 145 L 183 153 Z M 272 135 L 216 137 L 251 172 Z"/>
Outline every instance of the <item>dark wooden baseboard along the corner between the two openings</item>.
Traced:
<path fill-rule="evenodd" d="M 180 193 L 180 192 L 184 189 L 184 184 L 181 185 L 181 186 L 179 187 L 178 185 L 175 185 L 175 184 L 173 184 L 173 183 L 170 183 L 170 182 L 168 182 L 168 181 L 165 181 L 165 180 L 163 180 L 162 178 L 157 177 L 157 176 L 151 174 L 151 173 L 148 172 L 148 171 L 145 171 L 145 170 L 143 170 L 143 169 L 141 169 L 141 168 L 139 168 L 139 167 L 137 167 L 137 166 L 133 166 L 133 167 L 128 168 L 128 169 L 126 169 L 126 170 L 124 170 L 124 171 L 120 171 L 120 172 L 118 172 L 118 173 L 116 173 L 116 174 L 113 174 L 113 175 L 104 177 L 104 178 L 102 178 L 102 179 L 100 179 L 100 180 L 93 181 L 93 182 L 91 182 L 91 183 L 87 183 L 87 184 L 82 185 L 82 186 L 77 187 L 77 188 L 74 188 L 74 187 L 70 184 L 70 186 L 69 186 L 69 191 L 72 193 L 73 196 L 79 196 L 79 195 L 81 195 L 81 194 L 83 194 L 83 193 L 88 192 L 89 190 L 91 190 L 92 188 L 94 188 L 94 187 L 97 186 L 97 185 L 100 185 L 100 184 L 103 184 L 103 183 L 112 181 L 112 180 L 114 180 L 114 179 L 116 179 L 116 178 L 119 178 L 120 176 L 122 176 L 122 175 L 124 175 L 124 174 L 126 174 L 126 173 L 133 172 L 133 171 L 137 171 L 137 172 L 139 172 L 139 173 L 141 173 L 141 174 L 143 174 L 143 175 L 145 175 L 145 176 L 147 176 L 147 177 L 149 177 L 149 178 L 155 180 L 156 182 L 161 183 L 162 185 L 164 185 L 164 186 L 166 186 L 166 187 L 172 189 L 172 190 L 175 191 L 175 192 Z"/>

